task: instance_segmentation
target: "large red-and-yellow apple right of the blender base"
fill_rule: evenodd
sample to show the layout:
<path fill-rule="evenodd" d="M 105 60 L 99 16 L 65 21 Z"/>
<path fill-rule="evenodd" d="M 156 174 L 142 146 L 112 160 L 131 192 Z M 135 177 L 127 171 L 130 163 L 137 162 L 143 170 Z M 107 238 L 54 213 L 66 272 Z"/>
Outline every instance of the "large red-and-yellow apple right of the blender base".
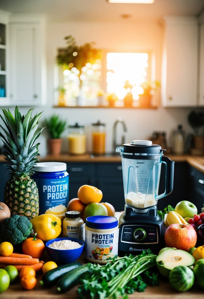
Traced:
<path fill-rule="evenodd" d="M 191 225 L 175 223 L 167 228 L 164 238 L 167 247 L 189 251 L 196 245 L 197 234 Z"/>

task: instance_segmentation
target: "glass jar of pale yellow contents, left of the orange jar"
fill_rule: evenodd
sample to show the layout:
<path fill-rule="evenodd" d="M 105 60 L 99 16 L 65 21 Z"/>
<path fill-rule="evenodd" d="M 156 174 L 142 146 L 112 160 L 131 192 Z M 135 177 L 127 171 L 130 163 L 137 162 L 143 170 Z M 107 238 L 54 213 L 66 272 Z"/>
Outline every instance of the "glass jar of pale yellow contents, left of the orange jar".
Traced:
<path fill-rule="evenodd" d="M 86 152 L 86 134 L 84 126 L 75 123 L 69 126 L 68 133 L 68 152 L 74 155 L 82 155 Z"/>

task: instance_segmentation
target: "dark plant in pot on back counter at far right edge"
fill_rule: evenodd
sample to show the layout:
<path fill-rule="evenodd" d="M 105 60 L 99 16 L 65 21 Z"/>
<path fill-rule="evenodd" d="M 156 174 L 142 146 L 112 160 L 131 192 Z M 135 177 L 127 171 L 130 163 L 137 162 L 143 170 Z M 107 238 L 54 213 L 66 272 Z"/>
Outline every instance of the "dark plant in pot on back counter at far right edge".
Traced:
<path fill-rule="evenodd" d="M 194 130 L 193 144 L 196 149 L 204 149 L 204 136 L 200 134 L 200 129 L 204 126 L 204 112 L 192 110 L 188 114 L 188 123 Z"/>

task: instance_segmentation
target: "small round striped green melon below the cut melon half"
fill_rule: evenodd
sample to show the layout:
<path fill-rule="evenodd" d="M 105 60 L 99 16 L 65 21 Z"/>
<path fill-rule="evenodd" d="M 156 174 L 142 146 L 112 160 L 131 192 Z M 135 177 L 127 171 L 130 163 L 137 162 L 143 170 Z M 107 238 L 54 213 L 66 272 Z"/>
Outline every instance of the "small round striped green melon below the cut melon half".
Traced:
<path fill-rule="evenodd" d="M 187 266 L 177 266 L 170 271 L 169 282 L 177 291 L 185 292 L 194 284 L 194 273 Z"/>

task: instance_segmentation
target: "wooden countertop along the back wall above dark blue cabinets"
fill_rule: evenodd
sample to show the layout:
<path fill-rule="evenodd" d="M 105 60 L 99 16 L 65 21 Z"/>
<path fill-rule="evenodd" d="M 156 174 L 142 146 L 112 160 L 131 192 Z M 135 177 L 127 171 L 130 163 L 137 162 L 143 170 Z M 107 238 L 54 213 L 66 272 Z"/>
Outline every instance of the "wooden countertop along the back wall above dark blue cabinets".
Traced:
<path fill-rule="evenodd" d="M 191 166 L 195 167 L 197 170 L 200 170 L 204 173 L 204 155 L 194 156 L 194 155 L 173 155 L 168 154 L 166 155 L 168 158 L 170 158 L 174 162 L 187 162 Z M 48 161 L 59 161 L 59 162 L 77 162 L 77 163 L 83 163 L 83 162 L 98 162 L 98 163 L 117 163 L 121 161 L 121 155 L 92 155 L 92 154 L 84 154 L 84 155 L 69 155 L 62 153 L 59 156 L 55 155 L 46 155 L 46 156 L 39 156 L 40 162 L 48 162 Z M 0 155 L 0 162 L 4 162 L 4 156 Z"/>

